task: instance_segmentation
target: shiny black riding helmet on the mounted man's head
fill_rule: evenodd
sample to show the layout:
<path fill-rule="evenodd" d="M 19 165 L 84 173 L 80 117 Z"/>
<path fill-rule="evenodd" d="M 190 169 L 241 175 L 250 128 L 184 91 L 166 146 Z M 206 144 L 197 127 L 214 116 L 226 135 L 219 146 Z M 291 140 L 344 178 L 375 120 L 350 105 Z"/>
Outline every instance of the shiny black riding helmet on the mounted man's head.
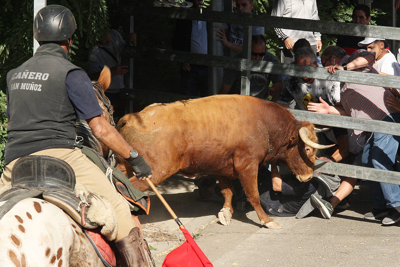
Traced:
<path fill-rule="evenodd" d="M 67 40 L 75 30 L 74 15 L 68 8 L 59 5 L 40 9 L 33 22 L 33 36 L 42 42 Z"/>

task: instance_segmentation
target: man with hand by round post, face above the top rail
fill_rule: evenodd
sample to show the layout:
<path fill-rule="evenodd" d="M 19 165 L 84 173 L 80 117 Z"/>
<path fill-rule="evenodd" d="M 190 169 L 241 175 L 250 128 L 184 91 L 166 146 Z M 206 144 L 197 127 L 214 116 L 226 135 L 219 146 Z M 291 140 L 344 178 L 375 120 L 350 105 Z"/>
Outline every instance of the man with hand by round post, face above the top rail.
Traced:
<path fill-rule="evenodd" d="M 236 0 L 236 10 L 238 13 L 251 13 L 254 7 L 253 0 Z M 226 38 L 228 31 L 230 32 L 231 40 Z M 264 27 L 253 26 L 252 35 L 264 35 Z M 240 53 L 243 50 L 243 26 L 238 24 L 226 24 L 224 28 L 220 29 L 216 34 L 224 46 L 234 52 Z"/>

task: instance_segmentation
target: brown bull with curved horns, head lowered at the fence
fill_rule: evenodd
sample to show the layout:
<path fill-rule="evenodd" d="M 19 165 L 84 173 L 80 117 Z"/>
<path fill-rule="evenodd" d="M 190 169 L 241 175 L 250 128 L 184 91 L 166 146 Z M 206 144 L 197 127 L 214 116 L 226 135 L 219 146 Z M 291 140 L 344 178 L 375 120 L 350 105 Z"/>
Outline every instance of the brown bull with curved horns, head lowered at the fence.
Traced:
<path fill-rule="evenodd" d="M 312 123 L 296 120 L 276 103 L 243 95 L 152 104 L 126 114 L 117 129 L 150 164 L 154 184 L 177 171 L 188 177 L 216 175 L 225 198 L 219 217 L 226 225 L 233 213 L 230 179 L 238 178 L 261 223 L 280 228 L 260 205 L 258 169 L 269 161 L 280 162 L 297 179 L 308 181 L 316 148 L 323 148 L 316 144 Z M 119 168 L 127 171 L 128 165 Z M 130 181 L 141 191 L 149 189 L 146 181 Z"/>

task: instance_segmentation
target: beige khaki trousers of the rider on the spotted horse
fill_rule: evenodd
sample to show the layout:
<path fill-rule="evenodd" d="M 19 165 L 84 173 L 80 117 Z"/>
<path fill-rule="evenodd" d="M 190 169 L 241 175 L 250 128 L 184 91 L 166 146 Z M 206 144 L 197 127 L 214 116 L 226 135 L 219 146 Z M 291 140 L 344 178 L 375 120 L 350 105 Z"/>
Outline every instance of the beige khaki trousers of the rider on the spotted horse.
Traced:
<path fill-rule="evenodd" d="M 89 190 L 97 191 L 110 201 L 115 209 L 118 221 L 118 234 L 116 241 L 129 235 L 130 230 L 136 225 L 132 221 L 129 205 L 112 187 L 106 175 L 80 151 L 80 149 L 45 149 L 30 155 L 45 155 L 66 161 L 74 170 L 76 181 L 82 183 Z M 18 159 L 10 162 L 5 168 L 0 179 L 0 193 L 11 186 L 11 170 Z"/>

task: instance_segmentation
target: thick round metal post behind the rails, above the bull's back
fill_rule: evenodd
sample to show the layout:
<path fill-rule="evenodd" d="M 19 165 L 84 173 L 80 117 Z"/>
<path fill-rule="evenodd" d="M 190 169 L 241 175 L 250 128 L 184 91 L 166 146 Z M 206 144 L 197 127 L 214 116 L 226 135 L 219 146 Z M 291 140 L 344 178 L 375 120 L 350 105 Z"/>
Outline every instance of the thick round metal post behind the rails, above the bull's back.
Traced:
<path fill-rule="evenodd" d="M 210 10 L 222 11 L 223 0 L 211 1 Z M 220 22 L 207 22 L 208 54 L 223 56 L 222 42 L 217 41 L 217 31 L 222 28 Z M 208 95 L 218 94 L 222 84 L 222 68 L 208 66 Z"/>

